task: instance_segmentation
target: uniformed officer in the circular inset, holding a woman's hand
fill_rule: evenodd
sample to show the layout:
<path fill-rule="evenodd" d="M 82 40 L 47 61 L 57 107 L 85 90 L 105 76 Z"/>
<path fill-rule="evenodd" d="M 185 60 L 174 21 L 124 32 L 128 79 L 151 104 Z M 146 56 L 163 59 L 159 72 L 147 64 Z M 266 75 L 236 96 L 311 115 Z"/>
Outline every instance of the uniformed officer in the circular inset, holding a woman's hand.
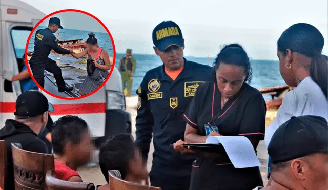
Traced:
<path fill-rule="evenodd" d="M 56 33 L 59 28 L 63 29 L 60 25 L 60 19 L 52 17 L 47 28 L 35 32 L 34 52 L 29 63 L 34 79 L 42 88 L 45 86 L 44 72 L 46 70 L 53 73 L 59 92 L 69 92 L 73 90 L 73 87 L 66 87 L 61 69 L 55 60 L 48 57 L 52 49 L 62 55 L 73 53 L 73 50 L 61 48 L 58 45 L 58 39 L 53 33 Z"/>

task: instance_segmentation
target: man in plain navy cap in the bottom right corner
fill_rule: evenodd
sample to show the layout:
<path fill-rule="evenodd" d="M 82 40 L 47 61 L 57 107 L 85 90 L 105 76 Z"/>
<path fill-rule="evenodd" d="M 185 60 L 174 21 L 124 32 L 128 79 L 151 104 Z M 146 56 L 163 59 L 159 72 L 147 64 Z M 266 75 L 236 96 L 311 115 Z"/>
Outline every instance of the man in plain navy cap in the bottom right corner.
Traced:
<path fill-rule="evenodd" d="M 328 124 L 319 116 L 293 116 L 273 134 L 271 189 L 328 189 Z"/>

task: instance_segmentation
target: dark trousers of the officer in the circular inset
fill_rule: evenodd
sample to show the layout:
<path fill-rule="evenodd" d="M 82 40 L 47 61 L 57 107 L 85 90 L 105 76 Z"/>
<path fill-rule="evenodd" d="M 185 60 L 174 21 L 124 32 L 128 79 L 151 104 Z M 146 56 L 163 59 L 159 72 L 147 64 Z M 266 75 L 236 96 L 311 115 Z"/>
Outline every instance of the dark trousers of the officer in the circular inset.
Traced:
<path fill-rule="evenodd" d="M 48 58 L 45 64 L 30 64 L 33 76 L 42 88 L 45 88 L 45 70 L 52 73 L 56 79 L 58 88 L 65 87 L 65 80 L 61 75 L 61 69 L 57 62 Z"/>

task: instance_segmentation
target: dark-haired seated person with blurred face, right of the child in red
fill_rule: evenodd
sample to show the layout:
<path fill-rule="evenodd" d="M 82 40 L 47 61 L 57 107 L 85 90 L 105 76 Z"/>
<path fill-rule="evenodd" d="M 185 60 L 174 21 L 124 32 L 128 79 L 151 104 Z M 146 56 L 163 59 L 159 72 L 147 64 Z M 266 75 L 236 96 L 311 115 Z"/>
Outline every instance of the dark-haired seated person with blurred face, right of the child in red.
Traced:
<path fill-rule="evenodd" d="M 109 183 L 109 170 L 118 170 L 122 180 L 132 183 L 141 184 L 141 182 L 148 179 L 147 169 L 142 163 L 139 149 L 130 134 L 115 135 L 101 145 L 99 165 L 107 183 Z M 99 185 L 97 189 L 108 190 L 109 184 Z"/>

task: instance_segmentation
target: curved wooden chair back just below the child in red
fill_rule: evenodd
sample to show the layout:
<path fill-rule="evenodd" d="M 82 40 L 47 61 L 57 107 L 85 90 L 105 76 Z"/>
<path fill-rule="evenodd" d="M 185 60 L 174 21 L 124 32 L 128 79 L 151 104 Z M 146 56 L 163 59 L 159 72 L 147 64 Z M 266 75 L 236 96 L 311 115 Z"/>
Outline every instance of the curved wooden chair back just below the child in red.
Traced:
<path fill-rule="evenodd" d="M 46 174 L 47 190 L 94 190 L 93 183 L 63 181 L 54 177 L 54 171 L 49 170 Z"/>

